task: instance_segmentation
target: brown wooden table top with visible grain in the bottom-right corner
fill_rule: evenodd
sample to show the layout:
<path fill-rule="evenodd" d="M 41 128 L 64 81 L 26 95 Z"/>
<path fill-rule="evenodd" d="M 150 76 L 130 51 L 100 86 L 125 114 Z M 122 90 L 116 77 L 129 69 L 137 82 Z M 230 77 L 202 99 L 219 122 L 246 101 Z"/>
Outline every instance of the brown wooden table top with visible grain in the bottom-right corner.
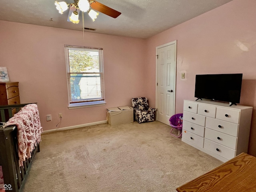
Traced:
<path fill-rule="evenodd" d="M 256 192 L 256 157 L 241 153 L 176 190 L 178 192 Z"/>

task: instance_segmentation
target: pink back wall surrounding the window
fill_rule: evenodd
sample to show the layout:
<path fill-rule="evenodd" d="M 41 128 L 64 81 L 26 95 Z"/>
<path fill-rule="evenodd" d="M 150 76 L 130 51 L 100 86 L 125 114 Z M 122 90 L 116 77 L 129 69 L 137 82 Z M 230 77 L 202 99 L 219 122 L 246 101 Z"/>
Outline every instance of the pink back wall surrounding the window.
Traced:
<path fill-rule="evenodd" d="M 72 24 L 72 23 L 71 23 Z M 145 41 L 96 33 L 84 34 L 29 24 L 0 21 L 0 66 L 18 81 L 21 103 L 38 102 L 44 130 L 106 120 L 106 109 L 131 106 L 144 96 Z M 68 110 L 64 45 L 103 48 L 106 106 Z M 46 122 L 46 114 L 52 121 Z M 59 126 L 58 126 L 59 127 Z"/>

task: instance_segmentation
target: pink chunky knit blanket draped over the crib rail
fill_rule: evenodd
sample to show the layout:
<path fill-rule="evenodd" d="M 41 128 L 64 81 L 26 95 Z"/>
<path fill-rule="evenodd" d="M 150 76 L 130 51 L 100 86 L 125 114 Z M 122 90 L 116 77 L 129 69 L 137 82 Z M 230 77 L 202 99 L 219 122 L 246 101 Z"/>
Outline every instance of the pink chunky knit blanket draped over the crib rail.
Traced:
<path fill-rule="evenodd" d="M 37 105 L 28 104 L 24 106 L 6 122 L 4 127 L 10 125 L 17 126 L 19 166 L 23 166 L 23 161 L 31 157 L 30 152 L 41 141 L 43 129 L 40 123 Z"/>

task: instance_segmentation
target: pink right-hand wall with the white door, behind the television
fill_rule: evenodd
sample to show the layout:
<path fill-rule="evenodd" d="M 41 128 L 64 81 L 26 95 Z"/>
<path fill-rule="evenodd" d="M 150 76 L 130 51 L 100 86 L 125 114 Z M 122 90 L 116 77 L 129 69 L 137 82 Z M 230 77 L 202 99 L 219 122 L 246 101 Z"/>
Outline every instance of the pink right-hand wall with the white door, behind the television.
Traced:
<path fill-rule="evenodd" d="M 171 19 L 171 18 L 170 18 Z M 256 156 L 256 1 L 233 0 L 147 41 L 149 76 L 155 77 L 156 46 L 177 40 L 176 113 L 194 100 L 196 74 L 243 73 L 240 104 L 253 106 L 249 153 Z M 185 80 L 181 79 L 185 72 Z M 155 93 L 155 79 L 148 82 Z M 151 95 L 155 99 L 155 95 Z"/>

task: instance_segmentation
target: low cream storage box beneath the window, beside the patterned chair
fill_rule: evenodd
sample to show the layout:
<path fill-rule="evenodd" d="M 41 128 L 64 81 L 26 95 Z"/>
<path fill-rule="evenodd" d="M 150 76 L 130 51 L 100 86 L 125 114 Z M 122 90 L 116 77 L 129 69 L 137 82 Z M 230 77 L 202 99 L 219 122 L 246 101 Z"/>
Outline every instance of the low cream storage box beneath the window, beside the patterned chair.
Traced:
<path fill-rule="evenodd" d="M 129 106 L 107 109 L 107 119 L 110 125 L 119 125 L 133 122 L 133 108 Z"/>

